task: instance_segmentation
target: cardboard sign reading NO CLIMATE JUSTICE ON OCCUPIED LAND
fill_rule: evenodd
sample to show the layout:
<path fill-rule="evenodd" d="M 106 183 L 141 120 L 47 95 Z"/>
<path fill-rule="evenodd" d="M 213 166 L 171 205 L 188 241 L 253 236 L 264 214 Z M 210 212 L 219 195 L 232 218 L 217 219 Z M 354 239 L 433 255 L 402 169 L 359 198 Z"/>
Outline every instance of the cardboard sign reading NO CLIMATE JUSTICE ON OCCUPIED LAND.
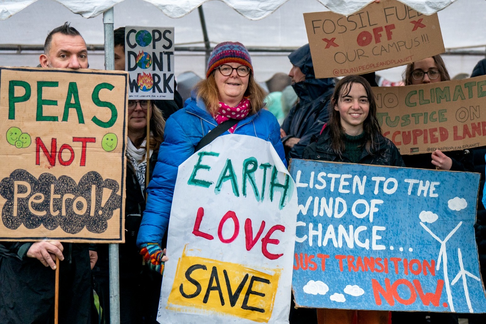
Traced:
<path fill-rule="evenodd" d="M 401 154 L 486 145 L 486 76 L 374 87 L 373 93 L 383 135 Z"/>

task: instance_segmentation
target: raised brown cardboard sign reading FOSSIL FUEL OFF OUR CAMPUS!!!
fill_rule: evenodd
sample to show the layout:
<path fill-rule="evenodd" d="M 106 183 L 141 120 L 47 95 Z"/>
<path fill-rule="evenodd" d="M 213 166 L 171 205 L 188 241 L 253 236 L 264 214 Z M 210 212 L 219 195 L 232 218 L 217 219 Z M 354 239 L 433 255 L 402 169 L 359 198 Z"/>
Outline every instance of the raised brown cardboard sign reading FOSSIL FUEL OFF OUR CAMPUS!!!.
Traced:
<path fill-rule="evenodd" d="M 398 67 L 445 51 L 437 14 L 397 0 L 370 3 L 348 17 L 328 11 L 304 20 L 316 78 Z"/>

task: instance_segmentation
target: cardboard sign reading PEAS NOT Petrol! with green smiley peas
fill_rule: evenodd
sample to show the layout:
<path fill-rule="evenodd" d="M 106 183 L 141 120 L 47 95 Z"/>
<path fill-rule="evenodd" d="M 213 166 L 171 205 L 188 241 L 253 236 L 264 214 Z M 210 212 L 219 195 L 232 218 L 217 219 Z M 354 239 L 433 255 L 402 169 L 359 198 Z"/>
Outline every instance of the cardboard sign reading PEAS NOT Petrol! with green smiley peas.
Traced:
<path fill-rule="evenodd" d="M 126 82 L 0 68 L 0 240 L 124 240 Z"/>

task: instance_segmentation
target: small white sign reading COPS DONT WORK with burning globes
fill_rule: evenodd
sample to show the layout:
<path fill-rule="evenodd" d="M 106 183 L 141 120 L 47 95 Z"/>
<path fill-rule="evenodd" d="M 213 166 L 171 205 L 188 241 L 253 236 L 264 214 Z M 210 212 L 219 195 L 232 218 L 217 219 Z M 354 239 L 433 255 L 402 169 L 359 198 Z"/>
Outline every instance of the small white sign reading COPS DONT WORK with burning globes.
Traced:
<path fill-rule="evenodd" d="M 129 99 L 174 99 L 174 27 L 125 27 Z"/>

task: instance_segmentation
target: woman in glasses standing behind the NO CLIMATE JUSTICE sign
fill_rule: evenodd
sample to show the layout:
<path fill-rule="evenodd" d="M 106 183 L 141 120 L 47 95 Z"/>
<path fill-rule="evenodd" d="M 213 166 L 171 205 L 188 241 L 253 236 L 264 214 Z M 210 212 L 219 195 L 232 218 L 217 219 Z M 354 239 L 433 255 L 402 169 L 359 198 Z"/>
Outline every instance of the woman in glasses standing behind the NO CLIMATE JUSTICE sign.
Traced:
<path fill-rule="evenodd" d="M 403 74 L 405 85 L 421 85 L 450 81 L 449 72 L 440 55 L 409 64 Z M 469 150 L 402 155 L 408 168 L 474 172 L 473 154 Z M 392 312 L 393 324 L 457 324 L 457 314 L 432 312 Z"/>

